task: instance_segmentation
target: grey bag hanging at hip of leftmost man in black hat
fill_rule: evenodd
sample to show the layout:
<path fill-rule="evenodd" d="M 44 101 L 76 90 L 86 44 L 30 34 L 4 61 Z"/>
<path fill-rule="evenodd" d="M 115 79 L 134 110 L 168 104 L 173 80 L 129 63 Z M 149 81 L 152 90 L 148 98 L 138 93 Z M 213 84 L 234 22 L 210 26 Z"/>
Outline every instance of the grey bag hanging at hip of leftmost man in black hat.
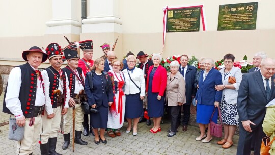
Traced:
<path fill-rule="evenodd" d="M 25 131 L 25 127 L 24 126 L 19 127 L 16 124 L 16 118 L 11 118 L 10 116 L 8 139 L 20 141 L 24 138 L 24 131 Z"/>

